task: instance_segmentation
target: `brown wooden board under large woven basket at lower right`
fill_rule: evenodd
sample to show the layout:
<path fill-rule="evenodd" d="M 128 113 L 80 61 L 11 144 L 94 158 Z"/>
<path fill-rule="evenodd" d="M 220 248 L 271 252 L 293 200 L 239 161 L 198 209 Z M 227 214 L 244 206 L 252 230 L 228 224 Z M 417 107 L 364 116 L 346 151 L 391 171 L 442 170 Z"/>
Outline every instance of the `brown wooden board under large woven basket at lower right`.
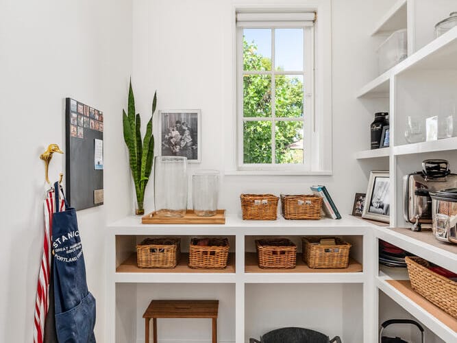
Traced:
<path fill-rule="evenodd" d="M 411 283 L 409 280 L 386 280 L 386 283 L 397 289 L 397 291 L 404 294 L 404 296 L 408 297 L 412 302 L 419 305 L 422 309 L 428 312 L 431 316 L 438 319 L 440 322 L 445 324 L 445 326 L 452 329 L 454 332 L 457 333 L 457 319 L 453 318 L 445 311 L 436 307 L 430 301 L 423 298 L 423 296 L 417 294 L 411 287 Z"/>

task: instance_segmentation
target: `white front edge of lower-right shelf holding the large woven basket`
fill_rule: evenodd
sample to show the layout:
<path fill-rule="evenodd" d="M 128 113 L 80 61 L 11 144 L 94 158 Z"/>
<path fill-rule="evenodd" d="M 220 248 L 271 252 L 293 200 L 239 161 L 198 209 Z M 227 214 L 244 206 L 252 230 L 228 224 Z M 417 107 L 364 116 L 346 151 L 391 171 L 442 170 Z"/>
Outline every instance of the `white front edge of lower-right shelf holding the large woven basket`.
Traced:
<path fill-rule="evenodd" d="M 408 294 L 405 294 L 405 292 L 400 292 L 398 287 L 394 287 L 394 285 L 389 282 L 392 280 L 393 279 L 386 274 L 375 277 L 375 283 L 382 292 L 394 300 L 395 303 L 406 309 L 412 316 L 415 316 L 435 335 L 444 342 L 457 342 L 457 332 L 425 309 L 426 307 L 433 308 L 434 305 L 428 304 L 427 300 L 417 296 L 413 292 L 410 293 L 411 297 L 408 296 Z M 419 303 L 421 303 L 422 306 L 419 305 Z M 441 314 L 439 310 L 436 310 L 436 312 Z M 449 318 L 450 316 L 445 317 L 447 318 L 447 322 L 452 322 L 452 324 L 454 324 L 452 318 Z"/>

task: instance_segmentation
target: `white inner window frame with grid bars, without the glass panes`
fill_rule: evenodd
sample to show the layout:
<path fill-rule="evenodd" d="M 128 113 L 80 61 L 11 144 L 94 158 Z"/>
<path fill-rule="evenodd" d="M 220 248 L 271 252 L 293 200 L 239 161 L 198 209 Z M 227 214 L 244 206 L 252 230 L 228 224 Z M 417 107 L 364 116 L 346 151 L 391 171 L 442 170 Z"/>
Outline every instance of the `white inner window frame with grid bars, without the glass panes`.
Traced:
<path fill-rule="evenodd" d="M 314 13 L 313 13 L 314 15 Z M 281 14 L 277 14 L 281 16 Z M 237 126 L 238 126 L 238 170 L 257 171 L 310 171 L 312 161 L 312 127 L 314 126 L 314 23 L 312 21 L 274 21 L 275 14 L 270 14 L 271 21 L 243 21 L 237 23 Z M 282 19 L 282 18 L 281 18 Z M 271 70 L 270 71 L 245 71 L 243 70 L 243 29 L 271 29 Z M 301 71 L 275 70 L 275 29 L 294 28 L 303 29 L 304 60 Z M 269 117 L 244 117 L 243 115 L 243 77 L 245 75 L 270 75 L 271 76 L 271 116 Z M 304 115 L 302 117 L 276 117 L 275 116 L 275 76 L 276 75 L 301 75 L 304 80 Z M 305 93 L 306 92 L 306 93 Z M 306 103 L 306 106 L 305 106 Z M 244 163 L 244 137 L 243 124 L 245 121 L 271 121 L 271 163 Z M 276 163 L 275 124 L 278 121 L 301 121 L 304 128 L 304 163 Z M 306 151 L 306 153 L 305 153 Z"/>

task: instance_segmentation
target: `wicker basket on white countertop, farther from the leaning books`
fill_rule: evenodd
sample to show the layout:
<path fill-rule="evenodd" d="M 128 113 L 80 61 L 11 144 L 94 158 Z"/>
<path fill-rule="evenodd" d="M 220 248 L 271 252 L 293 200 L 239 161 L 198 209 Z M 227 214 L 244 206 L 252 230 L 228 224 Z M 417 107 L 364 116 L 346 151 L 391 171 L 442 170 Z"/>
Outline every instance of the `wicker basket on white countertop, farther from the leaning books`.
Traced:
<path fill-rule="evenodd" d="M 273 194 L 241 194 L 243 220 L 276 220 L 277 201 Z"/>

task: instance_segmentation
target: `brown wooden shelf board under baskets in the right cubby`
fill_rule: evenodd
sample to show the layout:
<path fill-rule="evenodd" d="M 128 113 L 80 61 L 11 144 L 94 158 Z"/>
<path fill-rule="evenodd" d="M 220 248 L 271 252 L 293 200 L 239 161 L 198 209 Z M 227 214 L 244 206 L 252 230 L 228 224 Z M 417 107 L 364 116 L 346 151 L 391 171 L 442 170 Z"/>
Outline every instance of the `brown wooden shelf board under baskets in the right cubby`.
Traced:
<path fill-rule="evenodd" d="M 343 269 L 312 269 L 301 259 L 301 254 L 297 254 L 297 266 L 293 269 L 262 269 L 259 268 L 256 252 L 245 253 L 245 272 L 246 273 L 356 273 L 362 272 L 362 264 L 354 259 L 349 259 L 349 265 Z"/>

